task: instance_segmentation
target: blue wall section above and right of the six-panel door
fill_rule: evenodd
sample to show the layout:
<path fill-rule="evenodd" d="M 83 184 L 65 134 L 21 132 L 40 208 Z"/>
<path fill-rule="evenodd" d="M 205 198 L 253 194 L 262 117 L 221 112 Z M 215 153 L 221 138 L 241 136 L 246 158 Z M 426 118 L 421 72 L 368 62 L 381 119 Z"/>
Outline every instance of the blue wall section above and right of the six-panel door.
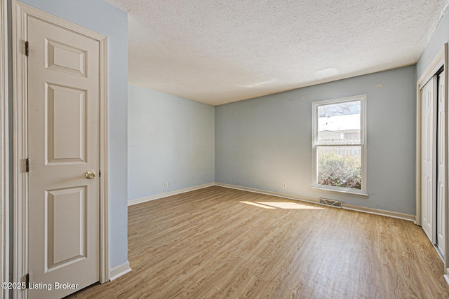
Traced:
<path fill-rule="evenodd" d="M 108 36 L 109 267 L 128 259 L 128 15 L 103 0 L 22 0 Z"/>

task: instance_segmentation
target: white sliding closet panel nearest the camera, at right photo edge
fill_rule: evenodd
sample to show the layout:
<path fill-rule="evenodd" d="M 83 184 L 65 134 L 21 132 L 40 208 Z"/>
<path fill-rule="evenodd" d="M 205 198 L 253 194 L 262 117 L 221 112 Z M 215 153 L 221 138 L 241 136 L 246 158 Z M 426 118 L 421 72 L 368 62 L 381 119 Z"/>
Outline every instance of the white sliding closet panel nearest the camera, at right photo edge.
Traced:
<path fill-rule="evenodd" d="M 436 246 L 444 258 L 445 253 L 445 97 L 444 72 L 438 76 L 438 130 L 437 130 L 437 190 L 436 190 Z"/>

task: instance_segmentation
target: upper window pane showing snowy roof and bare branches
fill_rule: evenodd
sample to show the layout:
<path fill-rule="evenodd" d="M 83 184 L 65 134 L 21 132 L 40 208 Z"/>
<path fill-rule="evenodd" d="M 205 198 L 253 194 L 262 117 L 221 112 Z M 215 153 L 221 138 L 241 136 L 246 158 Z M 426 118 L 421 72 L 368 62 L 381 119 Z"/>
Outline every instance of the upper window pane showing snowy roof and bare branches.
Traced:
<path fill-rule="evenodd" d="M 361 144 L 361 101 L 318 106 L 318 144 Z"/>

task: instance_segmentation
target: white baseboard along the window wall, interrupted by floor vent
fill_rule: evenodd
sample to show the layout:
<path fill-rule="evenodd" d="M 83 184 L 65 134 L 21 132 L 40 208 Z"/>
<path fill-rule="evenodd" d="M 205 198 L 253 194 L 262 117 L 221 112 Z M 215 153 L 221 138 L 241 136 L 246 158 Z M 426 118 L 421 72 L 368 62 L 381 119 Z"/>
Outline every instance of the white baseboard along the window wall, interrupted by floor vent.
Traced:
<path fill-rule="evenodd" d="M 319 203 L 319 199 L 311 198 L 311 197 L 302 197 L 297 195 L 290 195 L 286 193 L 278 193 L 273 191 L 267 191 L 267 190 L 260 190 L 255 188 L 248 188 L 248 187 L 242 187 L 242 186 L 235 186 L 235 185 L 229 185 L 227 183 L 215 183 L 215 186 L 225 187 L 225 188 L 232 188 L 237 190 L 243 190 L 243 191 L 249 191 L 253 193 L 260 193 L 260 194 L 266 194 L 266 195 L 274 195 L 279 196 L 283 198 L 288 198 L 290 200 L 300 200 L 302 202 L 311 202 L 311 203 Z M 392 218 L 399 218 L 407 221 L 415 221 L 415 215 L 409 215 L 409 214 L 403 214 L 398 213 L 394 211 L 385 211 L 381 209 L 372 209 L 372 208 L 366 208 L 366 207 L 360 207 L 353 204 L 345 204 L 343 203 L 342 209 L 349 209 L 352 211 L 361 211 L 368 214 L 375 214 L 375 215 L 381 215 L 381 216 L 388 216 Z"/>

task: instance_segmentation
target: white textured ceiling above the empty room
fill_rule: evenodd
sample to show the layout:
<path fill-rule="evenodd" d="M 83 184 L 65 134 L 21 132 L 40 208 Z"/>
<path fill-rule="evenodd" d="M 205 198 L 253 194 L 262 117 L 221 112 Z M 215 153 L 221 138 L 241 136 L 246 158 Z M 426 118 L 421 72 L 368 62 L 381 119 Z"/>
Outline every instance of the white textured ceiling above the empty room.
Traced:
<path fill-rule="evenodd" d="M 107 0 L 129 83 L 211 105 L 414 64 L 448 0 Z"/>

